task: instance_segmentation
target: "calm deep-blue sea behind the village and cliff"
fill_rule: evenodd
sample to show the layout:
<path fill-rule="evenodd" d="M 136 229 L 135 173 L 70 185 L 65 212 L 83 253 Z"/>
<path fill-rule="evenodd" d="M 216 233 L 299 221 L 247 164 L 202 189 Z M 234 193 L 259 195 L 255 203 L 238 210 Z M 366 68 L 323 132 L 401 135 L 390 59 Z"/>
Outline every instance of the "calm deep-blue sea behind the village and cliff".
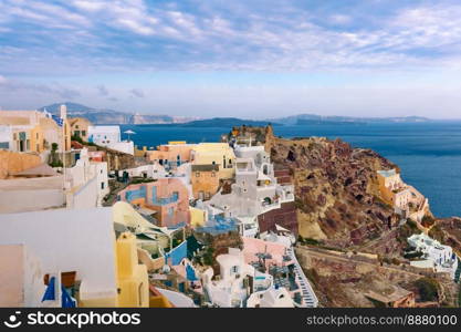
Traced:
<path fill-rule="evenodd" d="M 138 146 L 168 141 L 218 142 L 228 127 L 123 125 Z M 274 126 L 283 137 L 337 137 L 355 147 L 371 148 L 401 168 L 402 178 L 429 198 L 438 217 L 461 216 L 461 122 L 417 124 L 319 124 Z M 125 135 L 126 136 L 126 135 Z M 126 137 L 124 137 L 126 138 Z"/>

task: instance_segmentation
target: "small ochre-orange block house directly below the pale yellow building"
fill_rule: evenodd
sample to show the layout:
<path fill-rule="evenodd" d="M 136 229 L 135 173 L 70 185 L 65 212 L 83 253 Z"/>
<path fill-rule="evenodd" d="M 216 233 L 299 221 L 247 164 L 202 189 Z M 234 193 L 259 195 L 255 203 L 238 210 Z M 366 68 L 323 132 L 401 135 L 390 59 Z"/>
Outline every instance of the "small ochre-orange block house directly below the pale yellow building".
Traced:
<path fill-rule="evenodd" d="M 210 199 L 219 189 L 219 165 L 192 165 L 190 181 L 196 199 Z"/>

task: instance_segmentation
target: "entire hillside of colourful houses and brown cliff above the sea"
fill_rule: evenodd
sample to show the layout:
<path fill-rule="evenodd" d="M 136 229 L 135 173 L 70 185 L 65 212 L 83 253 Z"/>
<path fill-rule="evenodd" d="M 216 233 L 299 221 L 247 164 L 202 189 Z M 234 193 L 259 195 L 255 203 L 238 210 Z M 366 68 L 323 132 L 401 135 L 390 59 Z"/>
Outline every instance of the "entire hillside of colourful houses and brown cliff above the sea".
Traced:
<path fill-rule="evenodd" d="M 0 307 L 458 305 L 461 239 L 397 165 L 229 129 L 148 149 L 0 111 Z"/>

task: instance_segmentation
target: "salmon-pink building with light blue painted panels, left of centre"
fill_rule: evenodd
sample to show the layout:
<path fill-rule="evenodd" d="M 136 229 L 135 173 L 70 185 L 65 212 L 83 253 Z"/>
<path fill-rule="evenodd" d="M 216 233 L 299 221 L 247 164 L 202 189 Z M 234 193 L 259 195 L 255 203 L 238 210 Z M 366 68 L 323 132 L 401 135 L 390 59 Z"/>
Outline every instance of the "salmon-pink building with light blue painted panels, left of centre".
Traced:
<path fill-rule="evenodd" d="M 177 178 L 130 185 L 118 193 L 118 200 L 153 210 L 160 227 L 175 228 L 190 224 L 189 193 Z"/>

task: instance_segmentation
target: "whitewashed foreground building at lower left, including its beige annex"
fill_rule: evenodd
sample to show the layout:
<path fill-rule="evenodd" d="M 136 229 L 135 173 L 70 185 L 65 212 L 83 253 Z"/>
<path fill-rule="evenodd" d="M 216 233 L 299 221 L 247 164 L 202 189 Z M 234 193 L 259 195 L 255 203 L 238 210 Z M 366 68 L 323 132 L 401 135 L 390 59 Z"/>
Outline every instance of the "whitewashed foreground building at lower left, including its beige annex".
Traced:
<path fill-rule="evenodd" d="M 32 284 L 20 289 L 0 284 L 1 294 L 18 298 L 22 305 L 39 305 L 43 291 L 43 274 L 75 271 L 80 281 L 80 300 L 115 298 L 117 294 L 116 257 L 114 250 L 113 208 L 54 209 L 46 211 L 0 215 L 0 258 L 3 253 L 21 257 L 33 262 L 23 271 L 17 268 L 20 261 L 2 263 L 1 278 L 14 282 L 18 274 Z M 3 258 L 6 256 L 3 255 Z M 8 258 L 8 256 L 7 256 Z M 8 260 L 3 259 L 3 262 Z M 14 269 L 13 269 L 14 268 Z M 41 283 L 38 282 L 41 279 Z M 18 287 L 23 281 L 19 280 Z M 43 293 L 41 293 L 43 295 Z M 39 300 L 40 301 L 40 300 Z"/>

